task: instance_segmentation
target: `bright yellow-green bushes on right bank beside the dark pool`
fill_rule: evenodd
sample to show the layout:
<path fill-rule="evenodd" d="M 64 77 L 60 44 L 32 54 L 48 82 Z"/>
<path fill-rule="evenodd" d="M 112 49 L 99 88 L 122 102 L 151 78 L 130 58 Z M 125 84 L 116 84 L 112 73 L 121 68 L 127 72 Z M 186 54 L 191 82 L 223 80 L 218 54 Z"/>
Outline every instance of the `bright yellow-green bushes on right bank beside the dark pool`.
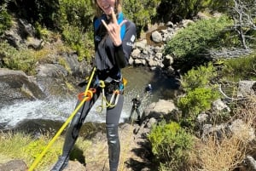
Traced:
<path fill-rule="evenodd" d="M 183 124 L 194 128 L 198 114 L 209 110 L 212 101 L 220 97 L 217 85 L 212 83 L 216 77 L 217 72 L 211 63 L 193 68 L 183 76 L 181 85 L 187 93 L 177 100 L 177 106 L 182 111 Z"/>

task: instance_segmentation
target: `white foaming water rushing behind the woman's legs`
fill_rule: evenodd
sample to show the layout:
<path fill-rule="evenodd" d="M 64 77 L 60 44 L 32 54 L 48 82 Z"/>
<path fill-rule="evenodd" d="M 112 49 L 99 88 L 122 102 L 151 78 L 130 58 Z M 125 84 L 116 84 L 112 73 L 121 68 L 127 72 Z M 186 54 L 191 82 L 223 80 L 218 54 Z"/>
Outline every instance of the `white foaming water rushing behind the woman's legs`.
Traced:
<path fill-rule="evenodd" d="M 67 117 L 75 110 L 77 100 L 73 99 L 50 99 L 24 101 L 19 104 L 5 106 L 0 109 L 0 124 L 5 128 L 14 128 L 18 123 L 27 119 L 45 119 L 65 122 Z M 121 114 L 120 123 L 124 122 L 131 107 L 125 106 Z M 90 110 L 84 122 L 104 123 L 106 120 L 106 109 L 99 112 L 99 106 L 102 105 L 101 97 Z"/>

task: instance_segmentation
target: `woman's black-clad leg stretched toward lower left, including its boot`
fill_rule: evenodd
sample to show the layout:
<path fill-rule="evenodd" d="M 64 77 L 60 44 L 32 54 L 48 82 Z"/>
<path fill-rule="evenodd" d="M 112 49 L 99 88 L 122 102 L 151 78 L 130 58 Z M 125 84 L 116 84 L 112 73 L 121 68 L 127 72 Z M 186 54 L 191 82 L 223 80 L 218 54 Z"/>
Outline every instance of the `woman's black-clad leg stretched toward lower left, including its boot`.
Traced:
<path fill-rule="evenodd" d="M 76 140 L 79 137 L 79 130 L 82 124 L 84 123 L 84 119 L 89 113 L 90 108 L 96 102 L 98 96 L 99 96 L 99 92 L 93 95 L 93 99 L 91 99 L 90 101 L 86 101 L 84 105 L 81 106 L 79 111 L 73 117 L 72 122 L 69 124 L 69 127 L 67 128 L 67 133 L 66 133 L 61 157 L 59 157 L 59 160 L 55 163 L 51 171 L 61 171 L 62 169 L 67 167 L 70 152 L 72 151 L 73 145 L 75 144 Z M 79 103 L 80 101 L 78 101 L 76 107 L 79 105 Z"/>

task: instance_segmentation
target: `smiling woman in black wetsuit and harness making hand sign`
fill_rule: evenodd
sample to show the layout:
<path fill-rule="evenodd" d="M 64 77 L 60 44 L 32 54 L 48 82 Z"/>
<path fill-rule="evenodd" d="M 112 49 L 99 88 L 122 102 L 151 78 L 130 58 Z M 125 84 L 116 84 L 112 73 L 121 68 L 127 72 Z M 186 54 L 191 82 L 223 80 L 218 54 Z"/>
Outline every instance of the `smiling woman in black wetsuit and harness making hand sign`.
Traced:
<path fill-rule="evenodd" d="M 120 153 L 118 125 L 124 102 L 121 68 L 128 65 L 132 45 L 137 35 L 136 26 L 131 20 L 125 19 L 120 0 L 94 0 L 94 3 L 96 7 L 96 18 L 93 21 L 96 76 L 90 88 L 95 88 L 96 93 L 91 100 L 84 102 L 73 117 L 67 128 L 61 157 L 51 171 L 59 171 L 67 167 L 70 152 L 79 136 L 84 119 L 102 93 L 100 81 L 105 83 L 104 95 L 108 101 L 113 95 L 113 90 L 119 90 L 117 103 L 108 106 L 106 112 L 109 168 L 110 171 L 118 170 Z M 79 103 L 80 101 L 77 106 Z"/>

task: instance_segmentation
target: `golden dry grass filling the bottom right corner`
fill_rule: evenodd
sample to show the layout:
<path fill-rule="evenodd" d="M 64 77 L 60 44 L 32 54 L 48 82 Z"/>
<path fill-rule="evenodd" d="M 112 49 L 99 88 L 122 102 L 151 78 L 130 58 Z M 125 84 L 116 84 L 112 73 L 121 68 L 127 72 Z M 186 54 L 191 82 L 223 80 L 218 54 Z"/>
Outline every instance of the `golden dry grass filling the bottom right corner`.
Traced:
<path fill-rule="evenodd" d="M 256 153 L 256 145 L 251 143 L 252 130 L 256 125 L 255 98 L 240 105 L 236 109 L 236 117 L 243 125 L 232 134 L 222 134 L 221 139 L 209 135 L 207 140 L 201 140 L 197 147 L 198 161 L 201 171 L 231 171 L 234 170 L 249 153 Z M 255 138 L 254 138 L 255 140 Z"/>

